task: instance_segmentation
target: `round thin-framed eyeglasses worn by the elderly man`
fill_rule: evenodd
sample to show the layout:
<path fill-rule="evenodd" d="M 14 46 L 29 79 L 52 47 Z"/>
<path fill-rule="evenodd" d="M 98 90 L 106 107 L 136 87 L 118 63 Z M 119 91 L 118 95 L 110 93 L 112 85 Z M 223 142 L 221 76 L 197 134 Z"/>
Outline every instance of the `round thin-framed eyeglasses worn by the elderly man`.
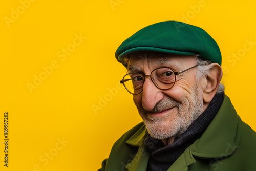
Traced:
<path fill-rule="evenodd" d="M 150 75 L 145 75 L 143 73 L 129 73 L 124 75 L 120 83 L 123 84 L 123 86 L 129 93 L 136 95 L 143 91 L 143 84 L 145 82 L 145 78 L 150 77 L 152 82 L 158 89 L 168 90 L 174 86 L 176 81 L 176 75 L 184 73 L 197 66 L 198 64 L 179 72 L 175 72 L 172 68 L 169 67 L 160 67 L 154 69 Z"/>

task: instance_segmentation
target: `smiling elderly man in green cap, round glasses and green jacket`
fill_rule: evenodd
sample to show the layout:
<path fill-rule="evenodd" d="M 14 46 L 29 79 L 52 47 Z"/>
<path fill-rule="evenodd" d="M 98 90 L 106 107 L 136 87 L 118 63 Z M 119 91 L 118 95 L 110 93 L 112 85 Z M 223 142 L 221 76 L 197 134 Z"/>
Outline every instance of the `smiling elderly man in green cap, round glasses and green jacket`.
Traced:
<path fill-rule="evenodd" d="M 99 170 L 256 169 L 256 133 L 224 95 L 221 53 L 203 29 L 156 23 L 126 39 L 116 58 L 143 122 Z"/>

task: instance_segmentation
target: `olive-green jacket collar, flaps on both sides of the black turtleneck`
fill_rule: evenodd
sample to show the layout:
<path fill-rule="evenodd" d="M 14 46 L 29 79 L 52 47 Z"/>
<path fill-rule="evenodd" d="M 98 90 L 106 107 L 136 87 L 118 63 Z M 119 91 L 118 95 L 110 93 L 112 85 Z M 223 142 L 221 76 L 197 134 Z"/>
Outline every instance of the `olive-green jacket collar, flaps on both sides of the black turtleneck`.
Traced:
<path fill-rule="evenodd" d="M 230 99 L 225 95 L 224 101 L 214 120 L 211 121 L 201 138 L 190 146 L 190 155 L 203 159 L 227 158 L 236 151 L 241 137 L 242 121 Z M 139 147 L 147 136 L 143 125 L 127 144 Z"/>

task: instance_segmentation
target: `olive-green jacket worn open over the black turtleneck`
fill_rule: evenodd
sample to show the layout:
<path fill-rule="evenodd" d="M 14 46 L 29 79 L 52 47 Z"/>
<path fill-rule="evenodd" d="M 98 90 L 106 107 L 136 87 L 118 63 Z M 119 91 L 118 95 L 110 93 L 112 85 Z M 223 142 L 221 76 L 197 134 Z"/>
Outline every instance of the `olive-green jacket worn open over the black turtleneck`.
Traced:
<path fill-rule="evenodd" d="M 99 171 L 145 171 L 150 157 L 143 123 L 116 141 Z M 256 133 L 241 121 L 230 99 L 223 104 L 201 138 L 190 145 L 169 170 L 256 170 Z"/>

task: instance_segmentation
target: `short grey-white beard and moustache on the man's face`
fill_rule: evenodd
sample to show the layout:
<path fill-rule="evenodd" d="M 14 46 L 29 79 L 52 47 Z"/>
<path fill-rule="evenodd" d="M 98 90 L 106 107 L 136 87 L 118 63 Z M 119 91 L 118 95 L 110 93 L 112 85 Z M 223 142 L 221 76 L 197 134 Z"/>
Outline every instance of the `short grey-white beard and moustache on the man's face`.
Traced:
<path fill-rule="evenodd" d="M 199 92 L 198 85 L 192 89 L 192 99 L 181 103 L 171 97 L 159 101 L 153 110 L 146 111 L 143 107 L 138 108 L 148 133 L 155 139 L 166 139 L 176 137 L 184 133 L 187 128 L 203 112 L 202 93 Z M 173 108 L 162 117 L 151 117 L 150 113 L 159 113 Z"/>

